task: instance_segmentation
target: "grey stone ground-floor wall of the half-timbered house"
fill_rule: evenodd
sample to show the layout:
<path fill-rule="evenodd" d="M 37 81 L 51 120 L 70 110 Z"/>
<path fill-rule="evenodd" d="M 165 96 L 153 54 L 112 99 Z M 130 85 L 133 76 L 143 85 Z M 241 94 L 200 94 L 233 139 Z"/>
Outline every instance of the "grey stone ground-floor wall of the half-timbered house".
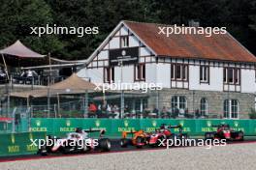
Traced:
<path fill-rule="evenodd" d="M 221 118 L 224 110 L 225 99 L 239 100 L 240 119 L 248 118 L 251 108 L 255 108 L 255 95 L 235 92 L 214 92 L 214 91 L 192 91 L 185 89 L 163 89 L 149 93 L 148 106 L 157 107 L 159 110 L 166 106 L 171 107 L 171 101 L 174 96 L 184 96 L 187 100 L 187 108 L 190 113 L 193 110 L 200 110 L 200 100 L 208 100 L 208 115 Z"/>

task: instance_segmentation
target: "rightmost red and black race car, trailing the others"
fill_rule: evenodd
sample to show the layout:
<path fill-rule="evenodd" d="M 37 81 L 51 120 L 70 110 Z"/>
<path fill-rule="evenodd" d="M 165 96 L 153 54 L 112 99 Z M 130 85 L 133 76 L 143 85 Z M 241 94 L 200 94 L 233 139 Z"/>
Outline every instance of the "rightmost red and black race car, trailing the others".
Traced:
<path fill-rule="evenodd" d="M 205 139 L 226 139 L 226 140 L 243 140 L 243 131 L 236 131 L 230 128 L 229 125 L 212 126 L 211 128 L 217 128 L 216 131 L 209 131 L 205 133 Z"/>

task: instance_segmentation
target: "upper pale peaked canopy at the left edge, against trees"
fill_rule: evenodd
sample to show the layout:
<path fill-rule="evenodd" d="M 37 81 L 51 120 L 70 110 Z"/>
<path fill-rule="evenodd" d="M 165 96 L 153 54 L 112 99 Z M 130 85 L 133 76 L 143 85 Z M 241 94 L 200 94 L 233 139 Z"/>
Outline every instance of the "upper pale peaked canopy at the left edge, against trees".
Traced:
<path fill-rule="evenodd" d="M 41 55 L 28 47 L 23 43 L 16 41 L 14 44 L 0 50 L 0 54 L 14 55 L 20 58 L 43 58 L 45 55 Z"/>

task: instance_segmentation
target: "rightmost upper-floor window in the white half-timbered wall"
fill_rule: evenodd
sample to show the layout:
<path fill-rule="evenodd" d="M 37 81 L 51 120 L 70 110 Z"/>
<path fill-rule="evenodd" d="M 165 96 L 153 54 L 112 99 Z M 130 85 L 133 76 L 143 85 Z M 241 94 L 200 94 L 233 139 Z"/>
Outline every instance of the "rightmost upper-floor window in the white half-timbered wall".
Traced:
<path fill-rule="evenodd" d="M 224 83 L 240 85 L 240 69 L 224 68 Z"/>

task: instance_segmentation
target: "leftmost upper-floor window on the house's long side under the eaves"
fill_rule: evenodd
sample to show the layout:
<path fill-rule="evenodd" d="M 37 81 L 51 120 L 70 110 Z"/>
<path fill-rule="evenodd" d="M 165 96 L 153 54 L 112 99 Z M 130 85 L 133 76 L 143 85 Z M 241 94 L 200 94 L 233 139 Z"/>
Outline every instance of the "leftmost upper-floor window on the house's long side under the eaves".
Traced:
<path fill-rule="evenodd" d="M 172 80 L 187 81 L 188 79 L 188 67 L 183 64 L 172 64 L 171 66 L 171 78 Z"/>

